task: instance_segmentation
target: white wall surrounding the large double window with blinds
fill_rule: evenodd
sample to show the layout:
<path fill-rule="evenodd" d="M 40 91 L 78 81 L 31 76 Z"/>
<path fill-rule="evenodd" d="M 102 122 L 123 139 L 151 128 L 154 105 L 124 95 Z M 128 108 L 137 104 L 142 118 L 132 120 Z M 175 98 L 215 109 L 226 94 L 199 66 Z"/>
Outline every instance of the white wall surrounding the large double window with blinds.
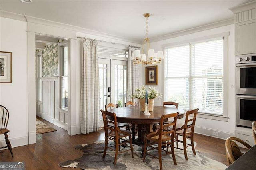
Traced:
<path fill-rule="evenodd" d="M 211 30 L 205 30 L 201 32 L 196 32 L 193 34 L 188 34 L 184 36 L 179 36 L 175 38 L 171 38 L 168 40 L 162 40 L 158 42 L 151 43 L 151 48 L 155 51 L 161 51 L 162 45 L 169 44 L 169 43 L 177 43 L 189 41 L 195 38 L 200 38 L 204 36 L 210 36 L 214 34 L 219 34 L 223 32 L 230 32 L 230 36 L 228 36 L 228 65 L 224 67 L 228 67 L 228 122 L 226 121 L 217 121 L 212 119 L 204 119 L 204 118 L 197 118 L 196 121 L 196 131 L 198 133 L 204 133 L 206 135 L 212 136 L 212 131 L 219 132 L 220 138 L 227 138 L 228 136 L 234 136 L 235 133 L 235 91 L 231 89 L 231 85 L 235 84 L 235 55 L 234 55 L 234 24 L 223 26 L 219 28 L 214 28 Z M 161 65 L 158 68 L 159 76 L 158 76 L 158 86 L 156 88 L 162 94 L 164 94 L 164 60 L 161 62 Z M 144 71 L 142 71 L 143 74 Z M 142 76 L 142 83 L 145 85 L 145 76 Z M 225 83 L 225 82 L 224 82 Z M 148 87 L 148 86 L 146 86 Z M 156 99 L 155 105 L 162 105 L 164 99 Z M 200 109 L 200 108 L 199 108 Z M 184 121 L 184 120 L 179 120 Z"/>

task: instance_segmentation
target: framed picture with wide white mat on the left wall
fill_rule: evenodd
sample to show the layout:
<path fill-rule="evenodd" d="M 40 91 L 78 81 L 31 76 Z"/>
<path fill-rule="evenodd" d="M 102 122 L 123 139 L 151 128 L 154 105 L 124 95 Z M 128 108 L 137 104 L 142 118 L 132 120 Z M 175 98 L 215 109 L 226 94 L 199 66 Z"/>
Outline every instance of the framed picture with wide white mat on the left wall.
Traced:
<path fill-rule="evenodd" d="M 0 51 L 0 83 L 12 83 L 12 53 Z"/>

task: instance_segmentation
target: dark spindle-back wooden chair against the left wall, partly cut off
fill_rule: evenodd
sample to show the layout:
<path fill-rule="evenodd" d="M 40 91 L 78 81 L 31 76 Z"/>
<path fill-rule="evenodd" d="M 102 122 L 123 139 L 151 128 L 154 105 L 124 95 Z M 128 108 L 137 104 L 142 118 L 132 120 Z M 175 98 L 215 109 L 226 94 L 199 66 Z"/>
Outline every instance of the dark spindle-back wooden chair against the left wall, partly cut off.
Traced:
<path fill-rule="evenodd" d="M 9 121 L 9 111 L 8 111 L 8 109 L 6 109 L 6 107 L 4 107 L 2 105 L 0 105 L 0 121 L 2 122 L 0 134 L 4 134 L 4 139 L 7 144 L 7 146 L 3 146 L 3 147 L 1 147 L 1 149 L 8 148 L 13 157 L 12 145 L 10 144 L 10 140 L 8 139 L 8 134 L 7 134 L 8 132 L 10 132 L 10 130 L 7 129 L 7 124 Z"/>

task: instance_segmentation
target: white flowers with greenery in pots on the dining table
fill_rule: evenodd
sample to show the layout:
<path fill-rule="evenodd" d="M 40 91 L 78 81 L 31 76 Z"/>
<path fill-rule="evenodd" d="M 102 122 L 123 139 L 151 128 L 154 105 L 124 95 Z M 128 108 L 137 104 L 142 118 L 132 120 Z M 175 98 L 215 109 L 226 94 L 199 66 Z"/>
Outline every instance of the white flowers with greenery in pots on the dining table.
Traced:
<path fill-rule="evenodd" d="M 140 88 L 136 88 L 133 92 L 133 95 L 131 95 L 133 98 L 136 99 L 145 99 L 146 96 L 146 87 L 142 85 Z M 161 98 L 162 94 L 158 93 L 157 89 L 155 87 L 148 87 L 148 99 L 155 99 L 155 98 Z"/>

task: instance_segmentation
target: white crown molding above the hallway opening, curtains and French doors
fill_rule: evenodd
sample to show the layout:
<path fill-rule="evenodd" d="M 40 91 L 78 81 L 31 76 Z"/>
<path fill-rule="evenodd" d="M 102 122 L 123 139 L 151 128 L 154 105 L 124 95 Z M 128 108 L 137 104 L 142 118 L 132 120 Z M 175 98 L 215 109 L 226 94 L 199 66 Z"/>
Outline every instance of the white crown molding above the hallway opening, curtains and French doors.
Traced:
<path fill-rule="evenodd" d="M 63 28 L 63 29 L 71 30 L 71 31 L 75 31 L 75 32 L 92 34 L 94 36 L 111 38 L 113 40 L 120 40 L 120 41 L 125 41 L 125 42 L 130 42 L 130 43 L 141 44 L 140 41 L 132 40 L 130 38 L 125 38 L 122 36 L 115 36 L 113 34 L 107 34 L 104 32 L 94 31 L 94 30 L 90 30 L 90 29 L 86 29 L 86 28 L 82 28 L 82 27 L 78 27 L 78 26 L 72 26 L 72 25 L 64 24 L 64 23 L 60 23 L 60 22 L 45 20 L 42 18 L 36 18 L 36 17 L 22 15 L 22 14 L 16 14 L 16 13 L 8 12 L 8 11 L 0 10 L 0 15 L 1 15 L 1 17 L 10 18 L 10 19 L 14 19 L 14 20 L 21 20 L 21 21 L 25 21 L 25 22 L 42 24 L 42 25 L 46 25 L 46 26 L 54 26 L 57 28 Z"/>

